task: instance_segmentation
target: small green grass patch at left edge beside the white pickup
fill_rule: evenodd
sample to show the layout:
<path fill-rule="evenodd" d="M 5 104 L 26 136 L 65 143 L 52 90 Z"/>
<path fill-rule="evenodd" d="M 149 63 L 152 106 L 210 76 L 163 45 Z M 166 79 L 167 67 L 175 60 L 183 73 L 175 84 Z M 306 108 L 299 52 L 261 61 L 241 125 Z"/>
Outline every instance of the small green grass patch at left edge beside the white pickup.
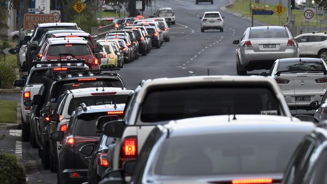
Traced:
<path fill-rule="evenodd" d="M 17 103 L 15 101 L 0 100 L 0 112 L 6 116 L 0 116 L 0 123 L 17 123 Z"/>

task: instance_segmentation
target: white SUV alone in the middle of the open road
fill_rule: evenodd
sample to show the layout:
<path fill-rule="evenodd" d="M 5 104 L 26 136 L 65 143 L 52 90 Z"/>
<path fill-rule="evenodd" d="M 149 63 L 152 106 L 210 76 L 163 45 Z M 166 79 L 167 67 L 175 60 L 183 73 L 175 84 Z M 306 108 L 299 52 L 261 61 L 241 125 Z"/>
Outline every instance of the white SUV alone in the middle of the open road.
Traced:
<path fill-rule="evenodd" d="M 220 16 L 219 12 L 205 12 L 201 19 L 201 32 L 206 29 L 219 29 L 224 31 L 224 17 Z"/>

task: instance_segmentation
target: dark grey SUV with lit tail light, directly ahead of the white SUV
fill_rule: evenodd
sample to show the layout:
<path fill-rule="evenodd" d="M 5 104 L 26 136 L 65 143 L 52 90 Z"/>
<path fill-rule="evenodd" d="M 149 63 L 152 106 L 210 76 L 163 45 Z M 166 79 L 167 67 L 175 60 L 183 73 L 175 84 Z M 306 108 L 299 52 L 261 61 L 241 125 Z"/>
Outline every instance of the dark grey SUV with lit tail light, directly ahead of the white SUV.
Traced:
<path fill-rule="evenodd" d="M 113 111 L 105 105 L 87 107 L 81 104 L 71 115 L 65 137 L 63 131 L 51 133 L 50 139 L 61 142 L 57 155 L 58 183 L 87 181 L 89 161 L 92 158 L 90 155 L 102 136 L 96 123 L 100 117 L 108 115 L 108 112 Z"/>

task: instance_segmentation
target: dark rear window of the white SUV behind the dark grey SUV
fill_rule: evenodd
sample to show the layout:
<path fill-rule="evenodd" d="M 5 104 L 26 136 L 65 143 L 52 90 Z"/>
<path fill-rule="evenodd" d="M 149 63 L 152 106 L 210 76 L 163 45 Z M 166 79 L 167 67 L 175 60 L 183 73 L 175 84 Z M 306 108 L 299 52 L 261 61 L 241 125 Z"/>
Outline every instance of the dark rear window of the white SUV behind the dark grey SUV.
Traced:
<path fill-rule="evenodd" d="M 89 96 L 78 97 L 70 100 L 68 107 L 68 114 L 71 115 L 73 111 L 81 104 L 85 103 L 87 106 L 99 106 L 105 104 L 125 104 L 128 95 L 108 95 L 108 96 Z"/>

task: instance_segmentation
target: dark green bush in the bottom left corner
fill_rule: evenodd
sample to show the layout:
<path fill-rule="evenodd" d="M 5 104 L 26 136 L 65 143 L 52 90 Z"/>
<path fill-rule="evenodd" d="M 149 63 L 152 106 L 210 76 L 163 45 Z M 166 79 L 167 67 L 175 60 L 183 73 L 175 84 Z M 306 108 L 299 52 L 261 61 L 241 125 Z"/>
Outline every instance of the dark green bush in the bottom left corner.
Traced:
<path fill-rule="evenodd" d="M 0 181 L 2 184 L 26 184 L 26 173 L 11 157 L 0 154 Z"/>

